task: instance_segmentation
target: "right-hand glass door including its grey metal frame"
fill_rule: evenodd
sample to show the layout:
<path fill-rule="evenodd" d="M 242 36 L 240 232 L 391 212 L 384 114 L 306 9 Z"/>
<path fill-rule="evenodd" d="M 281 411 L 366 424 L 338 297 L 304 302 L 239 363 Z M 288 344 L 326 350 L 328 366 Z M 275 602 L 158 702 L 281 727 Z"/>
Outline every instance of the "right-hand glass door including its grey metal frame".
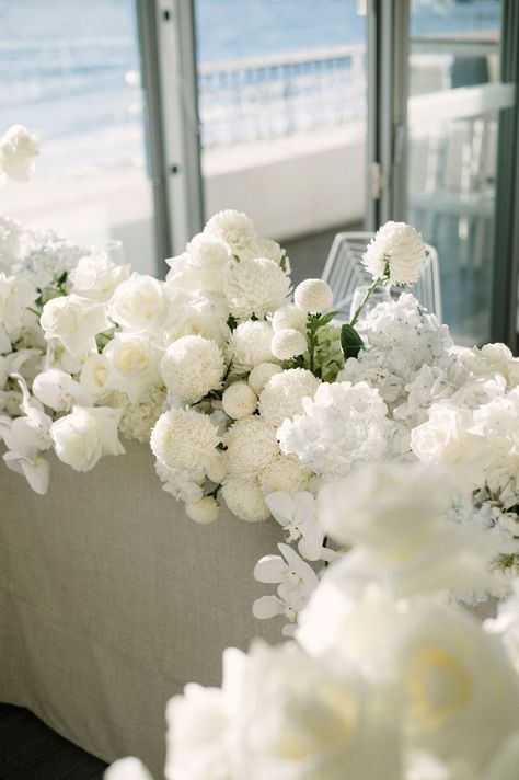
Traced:
<path fill-rule="evenodd" d="M 436 246 L 443 320 L 459 343 L 509 340 L 503 311 L 515 263 L 503 234 L 516 209 L 504 196 L 517 159 L 506 133 L 516 121 L 517 4 L 406 0 L 379 10 L 391 104 L 379 97 L 371 114 L 383 177 L 373 214 L 412 222 Z M 508 72 L 505 61 L 515 62 Z M 517 297 L 508 297 L 510 320 Z"/>

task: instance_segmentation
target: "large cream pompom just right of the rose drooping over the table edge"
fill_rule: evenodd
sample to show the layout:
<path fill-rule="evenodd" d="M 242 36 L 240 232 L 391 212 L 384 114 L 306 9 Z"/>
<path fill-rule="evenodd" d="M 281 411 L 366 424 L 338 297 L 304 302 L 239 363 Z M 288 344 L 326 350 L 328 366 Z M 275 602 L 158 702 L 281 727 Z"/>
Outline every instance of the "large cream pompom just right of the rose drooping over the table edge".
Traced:
<path fill-rule="evenodd" d="M 161 414 L 150 437 L 151 451 L 170 469 L 204 468 L 219 443 L 209 417 L 184 409 Z"/>

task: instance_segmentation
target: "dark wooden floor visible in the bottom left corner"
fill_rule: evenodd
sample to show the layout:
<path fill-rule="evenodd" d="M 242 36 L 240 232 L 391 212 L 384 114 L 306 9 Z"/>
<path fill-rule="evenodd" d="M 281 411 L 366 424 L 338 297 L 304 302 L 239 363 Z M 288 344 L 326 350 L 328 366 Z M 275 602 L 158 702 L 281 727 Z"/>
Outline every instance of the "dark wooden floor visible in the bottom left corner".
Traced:
<path fill-rule="evenodd" d="M 0 704 L 0 780 L 102 780 L 105 768 L 28 710 Z"/>

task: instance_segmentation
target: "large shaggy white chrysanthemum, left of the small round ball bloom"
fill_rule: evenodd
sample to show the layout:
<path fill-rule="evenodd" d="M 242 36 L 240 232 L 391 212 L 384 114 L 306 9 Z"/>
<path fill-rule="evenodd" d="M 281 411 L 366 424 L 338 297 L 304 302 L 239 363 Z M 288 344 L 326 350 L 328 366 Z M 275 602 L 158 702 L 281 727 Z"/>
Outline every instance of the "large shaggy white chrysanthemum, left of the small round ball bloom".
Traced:
<path fill-rule="evenodd" d="M 287 302 L 290 279 L 277 263 L 266 257 L 230 261 L 223 289 L 233 317 L 245 320 L 255 314 L 262 319 Z"/>

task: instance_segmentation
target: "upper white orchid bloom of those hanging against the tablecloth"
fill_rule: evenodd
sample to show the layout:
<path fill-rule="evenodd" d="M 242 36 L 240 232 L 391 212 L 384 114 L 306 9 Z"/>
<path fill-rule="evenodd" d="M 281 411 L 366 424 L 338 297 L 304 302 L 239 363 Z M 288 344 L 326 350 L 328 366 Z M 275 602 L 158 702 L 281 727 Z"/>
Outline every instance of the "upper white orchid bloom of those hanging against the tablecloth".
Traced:
<path fill-rule="evenodd" d="M 324 531 L 316 519 L 312 493 L 300 491 L 292 496 L 277 491 L 265 497 L 265 504 L 286 531 L 285 540 L 298 542 L 299 554 L 307 561 L 319 561 L 322 558 Z"/>

